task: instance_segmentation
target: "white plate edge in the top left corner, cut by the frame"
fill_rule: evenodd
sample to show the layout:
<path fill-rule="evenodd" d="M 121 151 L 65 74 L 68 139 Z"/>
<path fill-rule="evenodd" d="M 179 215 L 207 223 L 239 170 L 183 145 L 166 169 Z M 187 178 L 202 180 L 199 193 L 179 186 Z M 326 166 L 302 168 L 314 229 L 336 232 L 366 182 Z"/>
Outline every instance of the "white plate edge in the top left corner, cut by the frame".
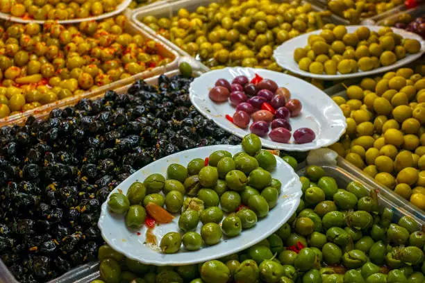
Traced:
<path fill-rule="evenodd" d="M 95 16 L 95 17 L 87 17 L 87 18 L 81 18 L 81 19 L 65 19 L 61 21 L 56 21 L 58 24 L 77 24 L 81 22 L 88 22 L 88 21 L 99 21 L 100 19 L 106 19 L 107 17 L 113 17 L 120 12 L 124 11 L 128 5 L 130 5 L 131 0 L 122 0 L 121 3 L 117 6 L 115 10 L 112 12 L 106 12 L 105 14 Z M 28 24 L 28 23 L 37 23 L 37 24 L 44 24 L 47 22 L 47 20 L 38 20 L 38 19 L 22 19 L 20 17 L 13 17 L 10 14 L 6 14 L 4 12 L 0 12 L 0 19 L 6 19 L 6 21 L 10 22 L 16 22 L 21 24 Z"/>

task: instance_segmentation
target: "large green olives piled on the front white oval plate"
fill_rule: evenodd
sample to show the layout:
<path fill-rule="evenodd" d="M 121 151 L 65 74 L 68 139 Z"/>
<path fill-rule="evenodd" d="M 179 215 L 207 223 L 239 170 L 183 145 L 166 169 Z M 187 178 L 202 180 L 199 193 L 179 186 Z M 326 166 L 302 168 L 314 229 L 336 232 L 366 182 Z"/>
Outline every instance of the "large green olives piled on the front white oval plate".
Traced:
<path fill-rule="evenodd" d="M 126 195 L 111 194 L 108 208 L 125 214 L 130 229 L 142 228 L 145 207 L 151 213 L 149 203 L 180 214 L 178 228 L 183 237 L 180 232 L 165 234 L 159 245 L 164 253 L 178 252 L 182 243 L 185 250 L 199 250 L 203 243 L 216 245 L 223 235 L 236 237 L 256 225 L 258 218 L 265 218 L 281 194 L 281 182 L 270 173 L 276 167 L 276 157 L 261 149 L 260 138 L 246 135 L 242 148 L 244 151 L 233 156 L 228 151 L 215 151 L 208 160 L 196 158 L 188 166 L 170 164 L 167 178 L 154 173 L 144 182 L 134 182 Z M 200 234 L 196 232 L 199 223 Z"/>

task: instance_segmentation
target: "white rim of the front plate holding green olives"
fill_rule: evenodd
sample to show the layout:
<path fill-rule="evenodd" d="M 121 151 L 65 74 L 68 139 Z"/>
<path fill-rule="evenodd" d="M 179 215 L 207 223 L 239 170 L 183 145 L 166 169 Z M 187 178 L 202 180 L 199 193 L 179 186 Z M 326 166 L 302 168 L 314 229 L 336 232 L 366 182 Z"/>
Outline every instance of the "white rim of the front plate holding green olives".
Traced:
<path fill-rule="evenodd" d="M 136 171 L 135 173 L 133 173 L 131 176 L 129 176 L 128 178 L 126 178 L 126 180 L 124 180 L 123 182 L 121 182 L 119 185 L 117 185 L 117 187 L 115 187 L 113 189 L 113 191 L 110 192 L 110 194 L 113 194 L 115 192 L 118 191 L 118 188 L 122 188 L 124 186 L 122 186 L 124 184 L 124 182 L 126 182 L 128 180 L 128 185 L 126 185 L 125 187 L 129 187 L 129 185 L 131 184 L 131 179 L 135 178 L 135 175 L 140 175 L 140 173 L 143 173 L 144 170 L 149 170 L 147 169 L 147 167 L 151 167 L 151 166 L 156 166 L 158 164 L 161 164 L 163 162 L 167 162 L 167 160 L 172 160 L 174 162 L 174 160 L 176 160 L 177 156 L 183 155 L 183 156 L 191 156 L 192 158 L 197 158 L 200 157 L 199 153 L 197 154 L 197 151 L 199 151 L 200 148 L 192 148 L 190 150 L 187 151 L 181 151 L 179 153 L 174 153 L 172 155 L 168 155 L 166 157 L 161 158 L 160 160 L 156 160 L 155 162 L 152 162 L 151 164 L 144 166 L 142 169 L 139 169 L 138 171 Z M 204 146 L 202 147 L 202 149 L 206 149 L 206 150 L 210 150 L 210 153 L 213 153 L 214 151 L 219 151 L 219 150 L 227 150 L 230 151 L 232 154 L 235 154 L 239 151 L 242 151 L 242 146 L 230 146 L 230 145 L 218 145 L 218 146 Z M 237 248 L 233 248 L 233 249 L 227 249 L 224 250 L 224 252 L 221 253 L 216 253 L 216 252 L 210 252 L 210 255 L 206 256 L 206 257 L 197 257 L 197 251 L 194 252 L 188 252 L 188 255 L 193 255 L 190 259 L 190 261 L 181 261 L 178 259 L 174 259 L 174 260 L 166 260 L 165 258 L 169 255 L 165 255 L 162 254 L 160 252 L 156 252 L 158 253 L 158 255 L 160 255 L 160 257 L 162 257 L 161 259 L 156 259 L 156 260 L 143 260 L 140 259 L 139 257 L 135 257 L 131 254 L 128 254 L 125 250 L 123 250 L 122 248 L 117 248 L 117 246 L 114 245 L 114 240 L 117 239 L 109 239 L 108 237 L 106 237 L 106 230 L 103 229 L 103 222 L 106 221 L 106 217 L 108 217 L 108 214 L 110 214 L 110 212 L 108 212 L 108 208 L 107 208 L 107 203 L 108 203 L 108 199 L 110 197 L 110 194 L 108 195 L 108 199 L 101 205 L 101 215 L 99 217 L 99 221 L 98 221 L 98 227 L 99 230 L 101 230 L 101 236 L 102 238 L 106 241 L 106 243 L 108 243 L 108 245 L 113 248 L 114 250 L 116 250 L 117 252 L 122 253 L 123 255 L 125 255 L 126 257 L 128 257 L 129 259 L 133 259 L 136 261 L 140 261 L 144 264 L 154 264 L 156 266 L 167 266 L 167 265 L 172 265 L 172 266 L 182 266 L 182 265 L 188 265 L 188 264 L 197 264 L 199 262 L 203 262 L 203 261 L 208 261 L 208 260 L 212 260 L 212 259 L 217 259 L 220 257 L 224 257 L 226 255 L 231 255 L 232 253 L 235 252 L 239 252 L 240 250 L 244 250 L 246 248 L 249 248 L 253 245 L 255 245 L 256 243 L 263 241 L 263 239 L 266 239 L 267 237 L 269 237 L 269 235 L 273 234 L 274 232 L 276 232 L 276 230 L 278 230 L 278 228 L 281 227 L 281 225 L 283 225 L 284 223 L 286 223 L 286 221 L 288 221 L 288 219 L 290 218 L 290 216 L 292 216 L 292 214 L 295 212 L 295 210 L 297 209 L 297 207 L 299 206 L 300 200 L 301 200 L 301 196 L 302 196 L 302 191 L 301 191 L 301 182 L 299 181 L 299 176 L 297 175 L 297 173 L 294 171 L 294 169 L 292 169 L 292 167 L 286 163 L 285 161 L 283 161 L 281 159 L 281 157 L 276 156 L 276 162 L 278 166 L 284 166 L 285 168 L 282 170 L 288 171 L 289 176 L 288 178 L 290 178 L 290 180 L 288 180 L 288 182 L 286 182 L 285 184 L 282 183 L 282 194 L 285 191 L 285 188 L 288 187 L 293 187 L 291 189 L 290 195 L 285 196 L 285 198 L 283 198 L 283 195 L 281 194 L 281 196 L 279 197 L 279 199 L 281 199 L 281 201 L 283 201 L 284 203 L 281 203 L 281 205 L 285 205 L 285 203 L 288 202 L 295 202 L 294 205 L 292 205 L 292 210 L 287 212 L 285 214 L 285 217 L 280 218 L 275 224 L 274 224 L 274 228 L 272 230 L 267 230 L 264 232 L 261 232 L 260 236 L 258 237 L 251 237 L 251 241 L 246 241 L 243 243 L 240 243 L 240 246 L 238 246 Z M 276 167 L 277 168 L 277 167 Z M 275 169 L 276 170 L 276 169 Z M 143 173 L 144 175 L 149 175 L 150 173 L 154 173 L 152 172 L 146 172 Z M 274 171 L 274 173 L 277 173 L 276 171 Z M 272 172 L 273 175 L 273 172 Z M 276 176 L 276 178 L 278 178 L 278 176 Z M 127 189 L 122 189 L 123 192 L 126 192 Z M 279 203 L 276 205 L 276 207 L 274 207 L 274 209 L 277 209 Z M 271 212 L 274 212 L 274 209 L 271 210 Z M 271 219 L 270 215 L 268 216 L 268 219 Z M 261 225 L 261 221 L 266 221 L 265 219 L 260 220 L 258 222 L 258 224 L 256 226 L 254 226 L 254 228 L 258 228 L 258 225 Z M 124 221 L 123 221 L 124 223 Z M 251 229 L 254 229 L 251 228 Z M 249 231 L 252 230 L 245 230 L 242 231 L 242 235 L 243 233 L 249 233 Z M 256 233 L 256 231 L 253 231 L 253 233 Z M 258 234 L 258 233 L 257 233 Z M 242 236 L 238 236 L 238 237 L 242 237 Z M 238 237 L 235 238 L 230 238 L 229 240 L 232 239 L 238 239 Z M 117 240 L 118 241 L 118 240 Z M 206 247 L 206 248 L 202 248 L 203 249 L 208 249 L 208 248 L 217 248 L 220 245 L 224 245 L 224 243 L 219 243 L 215 246 L 210 246 L 210 247 Z M 226 246 L 226 245 L 224 245 Z M 152 250 L 152 252 L 155 252 Z M 186 252 L 185 252 L 186 254 Z M 171 254 L 171 255 L 179 255 L 179 253 L 176 254 Z M 178 258 L 178 257 L 177 257 Z"/>

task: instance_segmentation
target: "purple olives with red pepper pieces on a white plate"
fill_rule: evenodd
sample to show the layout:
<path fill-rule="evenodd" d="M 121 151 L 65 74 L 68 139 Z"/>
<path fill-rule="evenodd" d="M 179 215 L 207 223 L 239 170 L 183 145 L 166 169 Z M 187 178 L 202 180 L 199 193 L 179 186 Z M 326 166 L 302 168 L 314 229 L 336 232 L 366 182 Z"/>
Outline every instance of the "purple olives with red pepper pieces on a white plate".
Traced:
<path fill-rule="evenodd" d="M 212 101 L 222 103 L 230 101 L 236 107 L 232 122 L 239 128 L 247 128 L 254 134 L 265 137 L 269 133 L 272 141 L 288 144 L 292 137 L 290 117 L 301 114 L 301 101 L 291 98 L 286 87 L 278 87 L 274 80 L 263 79 L 258 74 L 251 81 L 247 76 L 236 76 L 232 83 L 220 78 L 208 94 Z M 269 132 L 269 126 L 272 130 Z M 296 144 L 306 144 L 315 139 L 310 128 L 294 131 Z"/>

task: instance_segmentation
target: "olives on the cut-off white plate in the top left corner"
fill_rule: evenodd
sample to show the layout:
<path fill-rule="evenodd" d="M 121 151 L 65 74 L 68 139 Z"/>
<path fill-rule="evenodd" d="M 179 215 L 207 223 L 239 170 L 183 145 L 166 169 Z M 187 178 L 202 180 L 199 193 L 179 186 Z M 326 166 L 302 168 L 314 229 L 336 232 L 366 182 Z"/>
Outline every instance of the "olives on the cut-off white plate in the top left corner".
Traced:
<path fill-rule="evenodd" d="M 1 0 L 0 12 L 22 19 L 66 20 L 96 17 L 113 12 L 121 0 Z"/>

